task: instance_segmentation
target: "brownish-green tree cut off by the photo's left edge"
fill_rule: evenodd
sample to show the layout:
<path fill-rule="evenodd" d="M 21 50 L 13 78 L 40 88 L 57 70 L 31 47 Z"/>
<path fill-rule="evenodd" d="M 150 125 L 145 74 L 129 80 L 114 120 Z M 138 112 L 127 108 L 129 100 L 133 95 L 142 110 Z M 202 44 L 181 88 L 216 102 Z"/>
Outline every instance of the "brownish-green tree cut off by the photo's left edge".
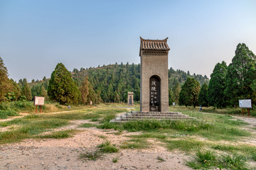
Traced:
<path fill-rule="evenodd" d="M 11 91 L 11 83 L 8 78 L 8 70 L 0 57 L 0 102 L 6 100 L 6 94 Z"/>

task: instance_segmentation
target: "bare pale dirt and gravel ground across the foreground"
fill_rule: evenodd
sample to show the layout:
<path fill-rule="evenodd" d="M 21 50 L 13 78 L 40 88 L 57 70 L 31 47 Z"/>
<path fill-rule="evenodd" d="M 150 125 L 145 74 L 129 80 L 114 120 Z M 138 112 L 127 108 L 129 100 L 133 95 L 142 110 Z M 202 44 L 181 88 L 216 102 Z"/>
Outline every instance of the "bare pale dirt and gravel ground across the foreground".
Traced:
<path fill-rule="evenodd" d="M 80 123 L 83 121 L 77 121 L 75 125 Z M 71 126 L 64 129 L 75 128 Z M 78 159 L 82 150 L 93 151 L 106 140 L 121 145 L 127 140 L 126 135 L 136 134 L 114 135 L 117 131 L 97 128 L 80 130 L 82 132 L 63 140 L 30 139 L 3 145 L 0 147 L 0 169 L 190 169 L 184 162 L 189 157 L 180 152 L 168 152 L 158 145 L 142 150 L 122 149 L 116 154 L 105 154 L 97 161 Z M 159 162 L 157 157 L 165 161 Z M 115 158 L 117 163 L 112 162 Z"/>

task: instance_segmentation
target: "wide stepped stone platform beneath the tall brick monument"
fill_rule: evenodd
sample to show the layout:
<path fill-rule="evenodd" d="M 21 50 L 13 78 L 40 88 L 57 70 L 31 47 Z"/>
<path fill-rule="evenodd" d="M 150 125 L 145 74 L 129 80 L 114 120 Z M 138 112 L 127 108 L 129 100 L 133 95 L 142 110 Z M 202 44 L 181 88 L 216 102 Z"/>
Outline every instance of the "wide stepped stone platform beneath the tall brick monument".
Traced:
<path fill-rule="evenodd" d="M 111 123 L 122 123 L 132 120 L 191 120 L 193 118 L 189 115 L 183 115 L 179 112 L 141 112 L 132 111 L 131 113 L 125 113 L 119 115 L 117 118 L 110 120 Z"/>

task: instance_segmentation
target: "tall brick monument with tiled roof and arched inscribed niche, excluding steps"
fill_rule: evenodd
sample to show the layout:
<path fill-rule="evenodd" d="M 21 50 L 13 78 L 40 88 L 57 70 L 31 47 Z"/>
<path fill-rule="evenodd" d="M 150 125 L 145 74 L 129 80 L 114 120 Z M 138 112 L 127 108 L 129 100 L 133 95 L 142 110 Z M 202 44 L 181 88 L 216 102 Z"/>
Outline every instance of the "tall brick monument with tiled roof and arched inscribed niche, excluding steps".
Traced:
<path fill-rule="evenodd" d="M 168 112 L 168 53 L 167 39 L 140 38 L 140 111 Z"/>

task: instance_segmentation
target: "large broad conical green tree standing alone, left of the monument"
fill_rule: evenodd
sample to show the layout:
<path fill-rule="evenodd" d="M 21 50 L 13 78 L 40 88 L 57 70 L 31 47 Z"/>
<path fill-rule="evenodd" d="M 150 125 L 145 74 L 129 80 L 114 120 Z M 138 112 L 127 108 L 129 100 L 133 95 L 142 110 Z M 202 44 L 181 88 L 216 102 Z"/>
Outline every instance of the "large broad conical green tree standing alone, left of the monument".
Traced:
<path fill-rule="evenodd" d="M 71 73 L 64 64 L 58 63 L 51 74 L 48 96 L 50 100 L 58 101 L 60 104 L 78 104 L 80 91 L 71 77 Z"/>

